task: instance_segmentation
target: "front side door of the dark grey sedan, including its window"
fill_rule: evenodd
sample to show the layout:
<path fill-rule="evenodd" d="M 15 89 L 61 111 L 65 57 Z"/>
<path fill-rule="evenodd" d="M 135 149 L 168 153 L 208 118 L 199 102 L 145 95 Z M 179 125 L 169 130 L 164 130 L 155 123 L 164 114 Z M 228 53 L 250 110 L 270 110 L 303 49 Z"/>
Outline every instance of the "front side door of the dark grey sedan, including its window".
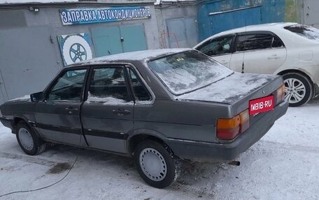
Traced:
<path fill-rule="evenodd" d="M 45 100 L 35 106 L 36 126 L 44 139 L 80 145 L 80 107 L 86 68 L 63 70 L 45 90 Z"/>

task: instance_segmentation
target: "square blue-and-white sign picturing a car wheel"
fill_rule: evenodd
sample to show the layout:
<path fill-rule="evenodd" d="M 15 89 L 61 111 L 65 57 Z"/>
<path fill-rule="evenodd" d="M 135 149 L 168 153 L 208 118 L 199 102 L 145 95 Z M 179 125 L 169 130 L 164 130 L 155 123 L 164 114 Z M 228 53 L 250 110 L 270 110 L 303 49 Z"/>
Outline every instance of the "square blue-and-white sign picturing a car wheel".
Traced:
<path fill-rule="evenodd" d="M 90 36 L 87 33 L 59 35 L 59 47 L 64 66 L 92 59 Z"/>

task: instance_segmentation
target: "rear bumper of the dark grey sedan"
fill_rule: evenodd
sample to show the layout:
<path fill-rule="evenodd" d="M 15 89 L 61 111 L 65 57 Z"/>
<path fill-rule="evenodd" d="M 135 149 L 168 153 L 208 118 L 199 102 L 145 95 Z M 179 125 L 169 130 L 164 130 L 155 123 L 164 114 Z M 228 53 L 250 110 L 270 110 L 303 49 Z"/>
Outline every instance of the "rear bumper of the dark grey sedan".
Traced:
<path fill-rule="evenodd" d="M 268 111 L 231 143 L 213 144 L 201 141 L 168 139 L 166 144 L 175 155 L 187 160 L 234 160 L 235 157 L 253 146 L 268 132 L 275 121 L 286 113 L 288 105 L 287 101 L 277 105 L 274 110 Z"/>

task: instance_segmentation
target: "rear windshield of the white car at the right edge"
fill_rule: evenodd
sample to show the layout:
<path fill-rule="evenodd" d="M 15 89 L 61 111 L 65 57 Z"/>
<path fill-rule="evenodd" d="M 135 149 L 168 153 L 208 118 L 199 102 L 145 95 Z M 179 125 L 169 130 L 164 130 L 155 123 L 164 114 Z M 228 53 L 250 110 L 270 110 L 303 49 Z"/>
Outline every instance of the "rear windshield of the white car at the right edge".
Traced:
<path fill-rule="evenodd" d="M 299 24 L 285 26 L 284 28 L 292 31 L 292 33 L 298 34 L 299 36 L 303 36 L 304 38 L 307 38 L 309 40 L 316 40 L 319 42 L 319 29 Z"/>

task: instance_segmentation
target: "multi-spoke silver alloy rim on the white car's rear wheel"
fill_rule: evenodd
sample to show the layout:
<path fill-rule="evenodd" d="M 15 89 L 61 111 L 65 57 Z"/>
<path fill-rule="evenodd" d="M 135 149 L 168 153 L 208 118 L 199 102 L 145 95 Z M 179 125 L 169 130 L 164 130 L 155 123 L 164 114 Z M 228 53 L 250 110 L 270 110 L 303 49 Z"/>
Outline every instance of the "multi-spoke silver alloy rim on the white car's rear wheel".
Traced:
<path fill-rule="evenodd" d="M 290 103 L 297 103 L 304 99 L 306 86 L 299 79 L 285 79 L 285 99 Z"/>

